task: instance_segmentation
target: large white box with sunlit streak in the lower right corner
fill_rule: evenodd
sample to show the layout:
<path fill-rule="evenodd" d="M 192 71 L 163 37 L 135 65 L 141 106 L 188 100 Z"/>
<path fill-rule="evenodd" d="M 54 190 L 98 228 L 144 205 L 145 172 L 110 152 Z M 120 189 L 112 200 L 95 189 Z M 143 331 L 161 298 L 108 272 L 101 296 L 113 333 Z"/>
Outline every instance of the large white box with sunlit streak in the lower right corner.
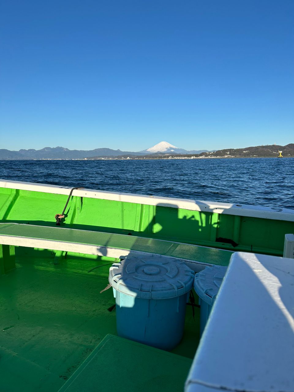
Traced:
<path fill-rule="evenodd" d="M 236 252 L 185 392 L 294 390 L 294 260 Z"/>

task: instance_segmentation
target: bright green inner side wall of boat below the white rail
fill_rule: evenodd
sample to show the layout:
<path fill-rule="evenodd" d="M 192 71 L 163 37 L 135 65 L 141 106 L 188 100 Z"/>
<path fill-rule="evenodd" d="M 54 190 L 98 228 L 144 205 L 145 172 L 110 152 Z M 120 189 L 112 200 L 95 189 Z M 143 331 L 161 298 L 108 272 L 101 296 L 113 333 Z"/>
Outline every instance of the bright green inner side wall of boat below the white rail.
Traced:
<path fill-rule="evenodd" d="M 40 184 L 23 184 L 0 188 L 0 222 L 54 226 L 54 216 L 64 209 L 70 189 L 51 187 L 44 192 Z M 100 196 L 91 190 L 77 190 L 73 195 L 62 227 L 276 256 L 283 255 L 285 234 L 294 231 L 294 210 L 238 205 L 224 208 L 224 203 L 214 203 L 212 208 L 211 203 L 197 201 L 182 203 L 187 207 L 179 208 L 178 199 L 145 197 L 142 203 L 137 195 L 120 197 L 119 193 L 103 192 Z M 114 198 L 117 200 L 111 200 Z M 202 211 L 193 211 L 194 205 Z"/>

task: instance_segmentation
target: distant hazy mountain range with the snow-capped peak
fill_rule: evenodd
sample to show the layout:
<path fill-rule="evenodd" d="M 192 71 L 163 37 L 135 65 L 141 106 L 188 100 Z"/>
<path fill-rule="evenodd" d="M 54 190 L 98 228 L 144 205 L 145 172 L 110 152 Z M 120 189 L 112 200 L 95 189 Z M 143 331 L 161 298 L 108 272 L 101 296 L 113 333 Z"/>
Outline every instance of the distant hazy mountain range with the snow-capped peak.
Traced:
<path fill-rule="evenodd" d="M 180 149 L 170 143 L 160 142 L 147 150 L 132 152 L 132 151 L 121 151 L 112 150 L 110 148 L 96 148 L 94 150 L 69 150 L 64 147 L 45 147 L 41 150 L 21 149 L 19 151 L 10 151 L 6 149 L 0 149 L 0 160 L 12 160 L 12 159 L 83 159 L 103 156 L 121 156 L 121 155 L 147 155 L 156 153 L 170 153 L 173 154 L 200 154 L 207 150 L 192 150 L 187 151 Z"/>

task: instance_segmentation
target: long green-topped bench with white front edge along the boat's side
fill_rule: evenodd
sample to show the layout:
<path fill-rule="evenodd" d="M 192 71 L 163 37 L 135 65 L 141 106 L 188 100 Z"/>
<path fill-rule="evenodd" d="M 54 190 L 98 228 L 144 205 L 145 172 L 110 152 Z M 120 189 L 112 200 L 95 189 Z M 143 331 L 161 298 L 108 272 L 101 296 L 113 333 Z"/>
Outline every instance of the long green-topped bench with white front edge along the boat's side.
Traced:
<path fill-rule="evenodd" d="M 205 265 L 228 265 L 229 250 L 187 243 L 63 227 L 0 223 L 0 274 L 15 267 L 15 246 L 125 258 L 128 254 L 159 254 L 187 261 L 199 272 Z"/>

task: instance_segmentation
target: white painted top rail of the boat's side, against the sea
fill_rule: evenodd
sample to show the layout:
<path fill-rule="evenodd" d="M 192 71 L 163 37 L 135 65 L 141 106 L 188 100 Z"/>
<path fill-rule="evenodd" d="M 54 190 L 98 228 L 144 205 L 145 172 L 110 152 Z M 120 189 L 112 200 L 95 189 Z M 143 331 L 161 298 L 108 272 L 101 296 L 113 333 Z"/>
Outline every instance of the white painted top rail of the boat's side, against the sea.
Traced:
<path fill-rule="evenodd" d="M 71 187 L 58 185 L 39 184 L 23 181 L 0 180 L 0 187 L 10 189 L 21 189 L 25 191 L 45 192 L 68 195 Z M 161 207 L 181 208 L 190 211 L 216 212 L 218 214 L 248 216 L 273 220 L 294 222 L 294 210 L 282 208 L 269 208 L 254 205 L 214 203 L 212 201 L 177 199 L 158 196 L 147 196 L 141 194 L 95 191 L 93 189 L 75 189 L 73 196 L 87 197 L 93 199 L 123 201 L 145 205 L 158 205 Z"/>

